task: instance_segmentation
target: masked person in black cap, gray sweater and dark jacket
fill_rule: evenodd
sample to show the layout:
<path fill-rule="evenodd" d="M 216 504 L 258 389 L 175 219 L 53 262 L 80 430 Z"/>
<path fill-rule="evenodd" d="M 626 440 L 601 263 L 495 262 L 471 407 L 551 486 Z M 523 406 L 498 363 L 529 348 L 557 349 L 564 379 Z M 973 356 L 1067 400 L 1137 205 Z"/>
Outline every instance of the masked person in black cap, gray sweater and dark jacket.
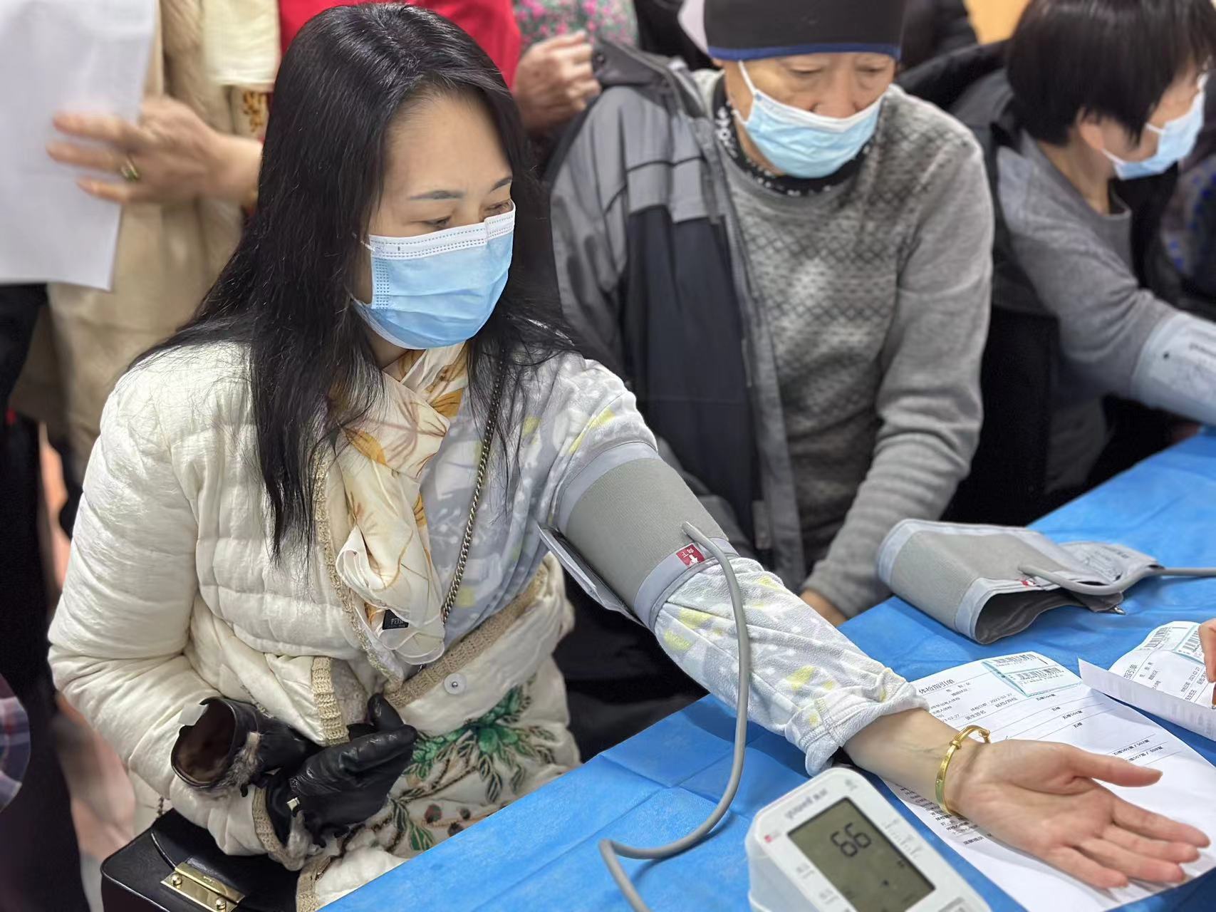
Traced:
<path fill-rule="evenodd" d="M 552 227 L 590 354 L 732 544 L 840 623 L 885 596 L 891 527 L 967 473 L 992 212 L 970 134 L 893 85 L 903 4 L 814 6 L 709 0 L 724 72 L 606 47 Z M 586 614 L 572 689 L 641 689 L 654 662 L 607 659 Z"/>

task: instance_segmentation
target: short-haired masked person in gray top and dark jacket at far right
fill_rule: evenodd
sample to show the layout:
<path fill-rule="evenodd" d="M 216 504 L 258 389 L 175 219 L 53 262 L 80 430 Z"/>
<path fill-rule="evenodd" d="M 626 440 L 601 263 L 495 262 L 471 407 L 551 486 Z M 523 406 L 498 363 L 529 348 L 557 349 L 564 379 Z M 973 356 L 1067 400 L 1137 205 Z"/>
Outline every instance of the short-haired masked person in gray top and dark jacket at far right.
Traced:
<path fill-rule="evenodd" d="M 1036 518 L 1167 444 L 1153 410 L 1216 420 L 1216 332 L 1172 305 L 1160 243 L 1214 49 L 1206 0 L 1032 0 L 1003 54 L 906 74 L 976 130 L 1001 221 L 989 421 L 951 518 Z"/>

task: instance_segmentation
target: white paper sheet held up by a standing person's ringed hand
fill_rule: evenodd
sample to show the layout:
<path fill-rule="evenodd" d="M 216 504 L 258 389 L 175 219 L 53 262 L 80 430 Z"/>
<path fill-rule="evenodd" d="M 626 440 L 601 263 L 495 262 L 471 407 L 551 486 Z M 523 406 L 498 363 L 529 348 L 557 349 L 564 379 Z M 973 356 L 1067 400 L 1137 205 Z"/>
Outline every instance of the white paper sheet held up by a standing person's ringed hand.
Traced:
<path fill-rule="evenodd" d="M 122 208 L 46 143 L 60 111 L 139 114 L 154 27 L 154 0 L 0 1 L 0 283 L 109 288 Z"/>

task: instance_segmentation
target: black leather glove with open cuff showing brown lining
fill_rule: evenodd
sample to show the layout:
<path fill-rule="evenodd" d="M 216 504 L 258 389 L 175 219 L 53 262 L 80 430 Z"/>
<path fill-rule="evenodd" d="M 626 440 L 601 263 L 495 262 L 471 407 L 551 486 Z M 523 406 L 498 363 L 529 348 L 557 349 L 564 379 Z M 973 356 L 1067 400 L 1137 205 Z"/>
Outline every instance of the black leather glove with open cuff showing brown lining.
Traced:
<path fill-rule="evenodd" d="M 209 794 L 240 789 L 243 795 L 321 749 L 249 703 L 213 698 L 202 705 L 202 717 L 178 733 L 170 761 L 182 781 Z"/>

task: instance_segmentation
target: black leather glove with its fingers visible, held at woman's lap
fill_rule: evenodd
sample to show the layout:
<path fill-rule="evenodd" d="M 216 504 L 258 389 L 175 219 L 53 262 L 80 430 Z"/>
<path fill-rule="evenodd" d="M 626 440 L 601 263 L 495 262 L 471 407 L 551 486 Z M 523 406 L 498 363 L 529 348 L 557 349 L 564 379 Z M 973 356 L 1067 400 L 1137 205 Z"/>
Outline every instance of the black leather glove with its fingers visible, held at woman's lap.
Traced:
<path fill-rule="evenodd" d="M 286 845 L 293 814 L 320 845 L 328 832 L 344 833 L 375 815 L 413 755 L 418 732 L 382 696 L 367 702 L 373 731 L 325 748 L 298 770 L 280 771 L 266 786 L 266 810 Z"/>

